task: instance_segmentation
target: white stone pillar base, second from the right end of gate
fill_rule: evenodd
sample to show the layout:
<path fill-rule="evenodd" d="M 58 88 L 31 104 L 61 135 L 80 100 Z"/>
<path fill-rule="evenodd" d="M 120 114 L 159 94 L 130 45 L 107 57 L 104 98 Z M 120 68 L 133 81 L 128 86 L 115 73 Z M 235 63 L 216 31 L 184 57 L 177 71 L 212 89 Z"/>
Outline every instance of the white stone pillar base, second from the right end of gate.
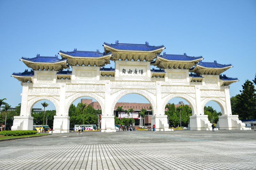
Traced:
<path fill-rule="evenodd" d="M 208 120 L 208 115 L 189 116 L 190 130 L 211 130 L 212 123 Z"/>

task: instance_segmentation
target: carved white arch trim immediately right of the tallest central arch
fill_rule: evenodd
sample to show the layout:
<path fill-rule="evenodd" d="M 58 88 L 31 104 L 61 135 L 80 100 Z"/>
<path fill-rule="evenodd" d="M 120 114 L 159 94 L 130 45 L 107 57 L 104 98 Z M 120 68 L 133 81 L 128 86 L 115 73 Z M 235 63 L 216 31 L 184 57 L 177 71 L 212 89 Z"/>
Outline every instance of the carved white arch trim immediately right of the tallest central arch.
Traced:
<path fill-rule="evenodd" d="M 193 98 L 189 97 L 188 95 L 185 95 L 185 94 L 171 94 L 169 95 L 165 100 L 164 100 L 164 103 L 163 103 L 163 106 L 162 106 L 162 111 L 164 113 L 164 109 L 165 109 L 165 106 L 166 106 L 166 103 L 171 100 L 172 98 L 175 98 L 175 97 L 180 97 L 186 101 L 188 101 L 189 105 L 191 106 L 191 109 L 192 109 L 192 115 L 196 115 L 197 114 L 197 109 L 196 109 L 196 105 L 195 103 L 193 102 Z"/>

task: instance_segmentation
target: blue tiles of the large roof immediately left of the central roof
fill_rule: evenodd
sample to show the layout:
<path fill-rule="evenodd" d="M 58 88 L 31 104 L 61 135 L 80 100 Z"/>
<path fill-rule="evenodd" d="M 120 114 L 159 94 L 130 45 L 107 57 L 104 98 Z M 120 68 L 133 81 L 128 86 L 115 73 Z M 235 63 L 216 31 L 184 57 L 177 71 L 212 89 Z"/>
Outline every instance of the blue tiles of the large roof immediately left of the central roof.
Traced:
<path fill-rule="evenodd" d="M 73 57 L 102 57 L 105 55 L 110 55 L 111 53 L 100 53 L 99 51 L 74 51 L 68 52 L 68 51 L 61 51 L 61 53 L 66 55 L 71 55 Z"/>

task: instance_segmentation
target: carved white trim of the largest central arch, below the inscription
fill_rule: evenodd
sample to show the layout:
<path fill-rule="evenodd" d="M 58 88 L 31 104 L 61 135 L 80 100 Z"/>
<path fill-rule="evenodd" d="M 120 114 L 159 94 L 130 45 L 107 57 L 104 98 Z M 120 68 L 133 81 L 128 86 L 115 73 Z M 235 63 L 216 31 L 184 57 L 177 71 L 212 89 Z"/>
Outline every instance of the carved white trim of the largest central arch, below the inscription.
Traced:
<path fill-rule="evenodd" d="M 126 90 L 126 91 L 120 93 L 118 96 L 116 96 L 115 100 L 113 101 L 113 105 L 111 107 L 111 112 L 110 113 L 114 113 L 116 103 L 119 99 L 121 99 L 124 95 L 131 94 L 131 93 L 139 94 L 139 95 L 145 97 L 150 102 L 150 104 L 152 105 L 153 115 L 155 115 L 155 113 L 157 113 L 156 112 L 156 104 L 155 104 L 154 100 L 143 90 Z"/>

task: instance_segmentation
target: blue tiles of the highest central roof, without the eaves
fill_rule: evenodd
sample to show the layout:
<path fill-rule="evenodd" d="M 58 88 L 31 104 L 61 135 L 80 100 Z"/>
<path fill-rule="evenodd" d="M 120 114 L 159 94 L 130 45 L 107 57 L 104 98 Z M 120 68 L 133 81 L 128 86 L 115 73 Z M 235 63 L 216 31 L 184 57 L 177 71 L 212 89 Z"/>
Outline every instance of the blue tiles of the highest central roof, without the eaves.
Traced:
<path fill-rule="evenodd" d="M 116 41 L 115 44 L 108 44 L 106 42 L 103 43 L 103 46 L 107 45 L 109 47 L 119 49 L 119 50 L 132 50 L 132 51 L 153 51 L 157 50 L 160 48 L 164 48 L 164 45 L 161 46 L 150 46 L 148 45 L 148 42 L 145 44 L 124 44 L 124 43 L 119 43 Z"/>

